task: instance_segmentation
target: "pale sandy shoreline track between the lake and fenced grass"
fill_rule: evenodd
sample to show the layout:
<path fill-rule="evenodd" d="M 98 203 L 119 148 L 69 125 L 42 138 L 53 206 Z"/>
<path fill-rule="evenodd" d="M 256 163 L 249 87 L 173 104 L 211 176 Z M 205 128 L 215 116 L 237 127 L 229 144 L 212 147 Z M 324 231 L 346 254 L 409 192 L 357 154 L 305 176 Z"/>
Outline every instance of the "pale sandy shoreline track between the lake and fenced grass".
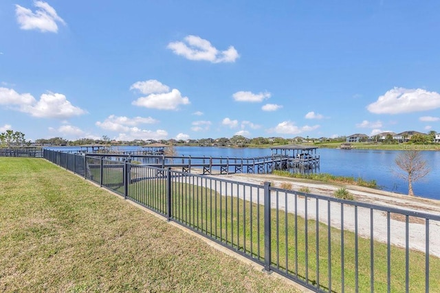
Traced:
<path fill-rule="evenodd" d="M 227 180 L 239 181 L 242 183 L 252 183 L 254 185 L 262 185 L 265 181 L 270 181 L 272 186 L 281 187 L 283 183 L 292 185 L 292 190 L 298 191 L 300 187 L 309 187 L 311 194 L 322 196 L 333 196 L 333 192 L 341 187 L 341 185 L 331 185 L 327 183 L 319 183 L 311 180 L 302 180 L 295 178 L 285 178 L 272 174 L 228 174 L 228 175 L 211 175 L 215 178 L 222 178 Z M 357 187 L 352 185 L 344 185 L 358 202 L 366 202 L 369 204 L 377 204 L 382 207 L 393 207 L 397 209 L 406 209 L 411 211 L 419 211 L 421 213 L 429 213 L 432 215 L 440 215 L 440 201 L 430 200 L 426 198 L 410 197 L 401 194 L 394 194 L 388 191 L 381 191 L 377 189 L 369 189 L 366 187 Z M 249 187 L 250 189 L 250 187 Z M 245 200 L 248 198 L 250 190 L 234 191 L 232 196 L 239 196 Z M 305 199 L 298 197 L 298 204 L 296 210 L 298 215 L 305 215 L 305 208 L 307 208 L 307 217 L 309 219 L 316 219 L 316 200 L 309 198 L 307 200 L 307 207 Z M 255 201 L 255 200 L 254 200 Z M 272 207 L 276 207 L 276 199 L 272 196 Z M 260 200 L 262 203 L 262 200 Z M 294 197 L 284 197 L 283 194 L 278 195 L 278 207 L 287 211 L 294 212 L 295 204 Z M 327 224 L 328 222 L 328 206 L 327 201 L 319 200 L 318 202 L 318 218 L 320 222 Z M 330 215 L 331 226 L 340 228 L 341 226 L 341 207 L 338 202 L 331 202 Z M 371 211 L 370 209 L 358 207 L 358 233 L 361 237 L 369 238 L 371 235 Z M 405 247 L 406 245 L 406 223 L 403 218 L 394 217 L 391 214 L 390 220 L 390 235 L 391 243 Z M 430 254 L 440 257 L 440 222 L 430 220 Z M 355 208 L 344 204 L 344 229 L 355 231 Z M 410 217 L 409 223 L 409 248 L 424 252 L 426 249 L 425 243 L 426 227 L 424 220 Z M 374 211 L 373 213 L 373 237 L 380 241 L 387 241 L 388 223 L 386 211 Z"/>

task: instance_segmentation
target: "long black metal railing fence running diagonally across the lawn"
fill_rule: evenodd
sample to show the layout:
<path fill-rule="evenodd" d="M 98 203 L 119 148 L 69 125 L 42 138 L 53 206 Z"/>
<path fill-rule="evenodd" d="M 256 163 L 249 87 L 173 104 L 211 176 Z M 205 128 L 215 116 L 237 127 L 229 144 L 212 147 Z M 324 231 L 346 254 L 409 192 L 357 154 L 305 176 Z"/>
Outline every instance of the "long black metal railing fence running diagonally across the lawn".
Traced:
<path fill-rule="evenodd" d="M 440 215 L 98 156 L 43 156 L 316 292 L 440 291 Z"/>

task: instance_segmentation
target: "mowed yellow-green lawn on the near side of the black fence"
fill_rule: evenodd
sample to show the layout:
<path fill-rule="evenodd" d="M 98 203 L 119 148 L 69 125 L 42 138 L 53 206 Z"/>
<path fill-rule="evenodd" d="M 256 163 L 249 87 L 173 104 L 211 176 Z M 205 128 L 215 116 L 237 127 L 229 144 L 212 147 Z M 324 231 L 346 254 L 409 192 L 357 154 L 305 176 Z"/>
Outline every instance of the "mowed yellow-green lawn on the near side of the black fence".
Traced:
<path fill-rule="evenodd" d="M 0 158 L 2 292 L 295 292 L 43 159 Z"/>

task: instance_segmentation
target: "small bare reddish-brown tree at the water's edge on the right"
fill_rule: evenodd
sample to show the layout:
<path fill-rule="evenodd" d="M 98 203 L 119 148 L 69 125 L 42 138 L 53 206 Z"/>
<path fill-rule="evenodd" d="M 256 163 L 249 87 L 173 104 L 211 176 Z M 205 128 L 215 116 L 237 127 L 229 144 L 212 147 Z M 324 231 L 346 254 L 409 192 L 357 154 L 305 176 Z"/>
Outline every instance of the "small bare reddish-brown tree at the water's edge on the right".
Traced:
<path fill-rule="evenodd" d="M 428 162 L 423 160 L 419 150 L 406 150 L 397 155 L 395 163 L 400 171 L 403 171 L 395 172 L 396 175 L 408 181 L 408 196 L 414 196 L 412 183 L 428 175 Z"/>

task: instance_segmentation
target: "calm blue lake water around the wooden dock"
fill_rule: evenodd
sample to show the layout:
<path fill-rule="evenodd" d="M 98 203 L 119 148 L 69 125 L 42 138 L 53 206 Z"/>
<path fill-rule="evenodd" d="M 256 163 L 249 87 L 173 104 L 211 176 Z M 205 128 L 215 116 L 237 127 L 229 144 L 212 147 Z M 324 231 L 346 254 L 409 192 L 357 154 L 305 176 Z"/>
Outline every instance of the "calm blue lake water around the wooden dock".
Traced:
<path fill-rule="evenodd" d="M 53 148 L 55 149 L 55 148 Z M 60 148 L 56 148 L 60 150 Z M 78 148 L 63 148 L 74 150 Z M 138 150 L 139 147 L 118 147 L 120 150 Z M 250 158 L 269 156 L 267 148 L 214 148 L 214 147 L 175 147 L 177 156 L 223 156 L 230 158 Z M 320 168 L 317 172 L 339 176 L 361 177 L 365 180 L 376 180 L 377 185 L 386 191 L 408 194 L 408 183 L 393 173 L 397 150 L 338 150 L 322 148 Z M 415 195 L 440 200 L 440 152 L 423 151 L 424 159 L 430 166 L 430 174 L 413 183 Z"/>

